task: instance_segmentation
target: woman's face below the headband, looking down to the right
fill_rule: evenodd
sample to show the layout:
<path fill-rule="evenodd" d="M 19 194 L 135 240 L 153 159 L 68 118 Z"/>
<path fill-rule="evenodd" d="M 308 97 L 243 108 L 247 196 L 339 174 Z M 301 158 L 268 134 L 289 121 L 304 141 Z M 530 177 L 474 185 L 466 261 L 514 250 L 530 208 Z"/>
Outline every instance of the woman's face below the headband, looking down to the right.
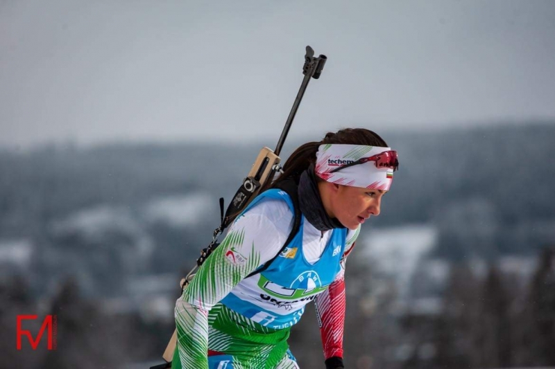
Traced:
<path fill-rule="evenodd" d="M 343 226 L 355 230 L 370 215 L 377 217 L 382 196 L 386 191 L 368 188 L 342 186 L 330 183 L 332 194 L 328 208 L 330 217 L 336 217 Z"/>

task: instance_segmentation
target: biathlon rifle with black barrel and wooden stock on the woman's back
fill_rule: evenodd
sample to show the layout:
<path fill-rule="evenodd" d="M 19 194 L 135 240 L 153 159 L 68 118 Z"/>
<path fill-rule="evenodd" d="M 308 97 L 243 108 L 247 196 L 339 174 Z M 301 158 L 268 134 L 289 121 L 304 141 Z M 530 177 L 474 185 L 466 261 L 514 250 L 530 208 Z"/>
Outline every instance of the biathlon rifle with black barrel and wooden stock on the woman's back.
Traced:
<path fill-rule="evenodd" d="M 241 184 L 241 187 L 239 187 L 239 190 L 235 193 L 233 199 L 228 205 L 228 209 L 225 210 L 225 215 L 223 213 L 223 198 L 220 198 L 221 224 L 218 228 L 214 229 L 212 242 L 210 242 L 210 244 L 203 249 L 203 251 L 201 251 L 200 258 L 196 260 L 196 265 L 193 269 L 191 269 L 191 271 L 189 271 L 187 276 L 182 278 L 180 281 L 181 291 L 183 291 L 183 289 L 185 289 L 185 287 L 187 287 L 189 282 L 192 280 L 196 269 L 198 269 L 210 253 L 212 253 L 212 251 L 219 246 L 219 235 L 233 222 L 235 217 L 241 213 L 241 210 L 246 208 L 250 201 L 258 195 L 264 184 L 271 181 L 276 172 L 282 172 L 282 167 L 280 165 L 280 152 L 285 142 L 285 138 L 287 138 L 287 134 L 289 133 L 293 119 L 297 114 L 302 96 L 305 95 L 305 90 L 307 89 L 310 79 L 314 78 L 317 80 L 320 78 L 326 60 L 327 57 L 325 55 L 314 57 L 314 50 L 310 46 L 307 46 L 305 64 L 302 66 L 302 74 L 304 74 L 305 77 L 302 79 L 302 83 L 300 84 L 300 89 L 297 93 L 297 97 L 295 98 L 295 102 L 293 102 L 293 107 L 289 112 L 289 116 L 287 117 L 285 127 L 283 128 L 280 139 L 278 140 L 278 145 L 275 146 L 275 150 L 273 151 L 268 147 L 263 147 L 262 150 L 260 150 L 255 163 L 253 163 L 253 166 L 250 168 L 250 172 L 248 172 L 247 177 L 243 180 L 243 184 Z M 164 351 L 164 354 L 162 354 L 162 358 L 167 361 L 167 363 L 159 366 L 153 366 L 151 369 L 171 368 L 171 359 L 173 359 L 173 352 L 176 350 L 176 345 L 177 331 L 174 330 L 167 348 Z"/>

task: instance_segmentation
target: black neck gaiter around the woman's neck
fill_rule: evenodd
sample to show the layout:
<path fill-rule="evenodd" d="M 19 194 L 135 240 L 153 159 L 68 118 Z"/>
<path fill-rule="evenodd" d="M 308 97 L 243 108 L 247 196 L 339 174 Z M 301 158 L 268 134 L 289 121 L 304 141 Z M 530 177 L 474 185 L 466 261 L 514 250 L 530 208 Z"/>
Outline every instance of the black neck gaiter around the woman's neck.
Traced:
<path fill-rule="evenodd" d="M 325 212 L 324 204 L 320 198 L 320 191 L 316 184 L 314 164 L 300 175 L 298 186 L 299 206 L 302 215 L 318 231 L 329 231 L 333 228 L 345 228 L 336 218 L 330 218 Z"/>

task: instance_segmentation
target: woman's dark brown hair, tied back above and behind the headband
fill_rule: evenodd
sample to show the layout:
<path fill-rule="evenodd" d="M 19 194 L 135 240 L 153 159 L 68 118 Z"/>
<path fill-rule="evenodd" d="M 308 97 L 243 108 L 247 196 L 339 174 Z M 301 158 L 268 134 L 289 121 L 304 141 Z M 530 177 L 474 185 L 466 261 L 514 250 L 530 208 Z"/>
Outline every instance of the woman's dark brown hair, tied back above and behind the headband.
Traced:
<path fill-rule="evenodd" d="M 300 145 L 284 163 L 283 173 L 271 182 L 271 184 L 266 183 L 266 186 L 261 189 L 261 192 L 268 188 L 275 188 L 278 183 L 289 178 L 294 179 L 296 183 L 298 183 L 300 174 L 309 168 L 311 163 L 316 162 L 316 152 L 318 152 L 318 146 L 325 143 L 387 147 L 386 141 L 384 141 L 384 139 L 377 133 L 370 131 L 370 129 L 345 128 L 335 133 L 328 132 L 322 141 L 308 142 Z"/>

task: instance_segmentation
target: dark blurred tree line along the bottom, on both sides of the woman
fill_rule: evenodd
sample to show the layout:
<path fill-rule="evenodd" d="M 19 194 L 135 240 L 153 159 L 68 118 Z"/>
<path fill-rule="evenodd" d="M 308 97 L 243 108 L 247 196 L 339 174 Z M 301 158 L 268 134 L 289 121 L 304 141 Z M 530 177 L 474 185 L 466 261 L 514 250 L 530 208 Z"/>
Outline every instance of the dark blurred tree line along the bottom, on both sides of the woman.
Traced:
<path fill-rule="evenodd" d="M 396 312 L 395 288 L 373 294 L 368 266 L 352 260 L 347 270 L 345 364 L 356 369 L 479 369 L 555 366 L 555 247 L 538 256 L 528 282 L 495 264 L 476 276 L 466 263 L 452 264 L 438 314 Z M 363 282 L 361 282 L 363 281 Z M 0 283 L 0 368 L 127 368 L 161 357 L 173 325 L 138 314 L 104 314 L 100 302 L 80 296 L 68 279 L 53 298 L 28 294 L 28 281 Z M 58 316 L 58 347 L 46 339 L 15 350 L 17 314 Z M 43 316 L 44 316 L 43 315 Z M 26 322 L 25 329 L 33 334 Z M 323 368 L 320 333 L 309 305 L 293 327 L 291 349 L 301 368 Z M 162 359 L 160 359 L 162 363 Z M 134 367 L 135 368 L 135 367 Z"/>

